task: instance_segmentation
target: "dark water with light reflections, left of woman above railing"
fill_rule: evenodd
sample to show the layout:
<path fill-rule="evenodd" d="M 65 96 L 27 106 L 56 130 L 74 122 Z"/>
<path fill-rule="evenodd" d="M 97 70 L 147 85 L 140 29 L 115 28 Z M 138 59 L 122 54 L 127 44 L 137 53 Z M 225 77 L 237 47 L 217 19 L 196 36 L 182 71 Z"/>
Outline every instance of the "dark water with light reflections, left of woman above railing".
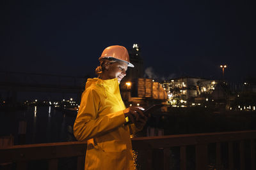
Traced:
<path fill-rule="evenodd" d="M 63 141 L 74 141 L 72 129 L 76 115 L 65 115 L 60 110 L 55 110 L 51 106 L 33 106 L 27 110 L 0 112 L 1 127 L 5 127 L 1 136 L 14 136 L 15 145 L 20 144 L 19 122 L 26 122 L 26 141 L 22 144 L 32 143 L 54 143 Z M 24 127 L 22 127 L 24 129 Z"/>

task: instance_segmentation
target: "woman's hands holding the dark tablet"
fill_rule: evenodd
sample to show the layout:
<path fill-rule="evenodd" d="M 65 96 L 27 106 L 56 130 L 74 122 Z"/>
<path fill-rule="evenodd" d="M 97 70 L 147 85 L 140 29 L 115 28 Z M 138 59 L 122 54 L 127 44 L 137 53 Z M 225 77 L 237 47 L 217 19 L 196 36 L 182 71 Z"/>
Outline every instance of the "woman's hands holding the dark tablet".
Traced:
<path fill-rule="evenodd" d="M 124 110 L 124 117 L 128 117 L 129 120 L 135 124 L 135 122 L 143 122 L 143 120 L 147 117 L 145 117 L 145 115 L 143 114 L 143 110 L 144 108 L 141 108 L 140 106 L 134 106 L 131 108 L 126 108 Z M 143 118 L 145 117 L 145 118 Z M 141 118 L 143 118 L 143 120 L 141 120 Z M 147 122 L 147 121 L 146 121 Z"/>

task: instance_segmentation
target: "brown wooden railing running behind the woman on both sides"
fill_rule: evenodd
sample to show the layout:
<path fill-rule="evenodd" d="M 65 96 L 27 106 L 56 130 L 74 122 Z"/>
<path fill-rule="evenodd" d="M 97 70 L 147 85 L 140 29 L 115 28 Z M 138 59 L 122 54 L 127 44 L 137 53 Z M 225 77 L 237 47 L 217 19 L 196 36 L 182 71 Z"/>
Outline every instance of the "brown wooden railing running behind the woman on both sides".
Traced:
<path fill-rule="evenodd" d="M 221 143 L 228 143 L 228 169 L 234 169 L 234 155 L 239 154 L 240 167 L 245 169 L 245 142 L 250 142 L 250 169 L 255 170 L 255 139 L 256 131 L 218 132 L 204 134 L 181 134 L 159 137 L 144 137 L 132 139 L 134 150 L 147 152 L 147 167 L 153 169 L 152 153 L 154 150 L 162 150 L 163 159 L 157 162 L 161 169 L 170 169 L 170 148 L 180 148 L 180 169 L 186 169 L 188 161 L 186 155 L 187 146 L 195 146 L 195 169 L 209 169 L 208 145 L 216 143 L 216 169 L 221 169 Z M 234 153 L 234 143 L 239 143 L 239 152 Z M 58 159 L 64 157 L 77 157 L 77 169 L 84 168 L 86 143 L 64 142 L 44 143 L 36 145 L 14 145 L 8 148 L 0 148 L 0 164 L 15 162 L 17 169 L 27 169 L 30 160 L 49 160 L 49 169 L 58 169 Z M 248 169 L 246 169 L 248 170 Z"/>

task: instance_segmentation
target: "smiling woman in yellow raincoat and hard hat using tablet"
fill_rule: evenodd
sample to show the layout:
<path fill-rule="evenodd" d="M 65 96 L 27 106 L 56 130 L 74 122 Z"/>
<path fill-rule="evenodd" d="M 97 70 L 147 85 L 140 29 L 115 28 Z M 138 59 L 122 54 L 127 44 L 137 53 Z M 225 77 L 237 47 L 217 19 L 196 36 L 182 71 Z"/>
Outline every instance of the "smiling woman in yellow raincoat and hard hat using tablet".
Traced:
<path fill-rule="evenodd" d="M 90 169 L 134 169 L 130 135 L 143 129 L 143 108 L 126 108 L 119 83 L 129 61 L 124 46 L 109 46 L 99 57 L 98 78 L 88 78 L 74 124 L 74 135 L 86 141 L 85 166 Z M 131 124 L 127 124 L 131 122 Z"/>

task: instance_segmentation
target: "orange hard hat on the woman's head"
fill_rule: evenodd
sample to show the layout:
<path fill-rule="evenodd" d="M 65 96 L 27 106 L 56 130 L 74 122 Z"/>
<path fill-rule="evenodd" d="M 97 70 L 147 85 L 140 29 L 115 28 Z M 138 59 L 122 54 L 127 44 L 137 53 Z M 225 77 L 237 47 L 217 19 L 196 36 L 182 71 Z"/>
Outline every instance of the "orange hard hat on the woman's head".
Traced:
<path fill-rule="evenodd" d="M 127 62 L 128 67 L 134 67 L 129 60 L 128 51 L 124 46 L 120 46 L 120 45 L 108 46 L 103 50 L 101 56 L 99 57 L 99 60 L 103 58 L 114 58 L 117 60 L 122 60 L 124 62 Z"/>

